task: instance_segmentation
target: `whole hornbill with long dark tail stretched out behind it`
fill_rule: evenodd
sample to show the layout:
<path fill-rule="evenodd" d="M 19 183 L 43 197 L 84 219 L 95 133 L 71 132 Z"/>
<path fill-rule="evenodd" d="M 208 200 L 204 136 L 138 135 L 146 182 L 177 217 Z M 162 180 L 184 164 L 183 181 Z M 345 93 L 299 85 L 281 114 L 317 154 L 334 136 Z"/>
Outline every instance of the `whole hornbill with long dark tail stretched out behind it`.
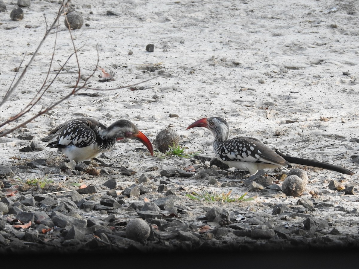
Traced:
<path fill-rule="evenodd" d="M 202 118 L 192 123 L 187 129 L 194 127 L 205 127 L 211 130 L 214 135 L 213 150 L 220 161 L 248 171 L 250 174 L 256 174 L 261 169 L 287 167 L 289 162 L 333 170 L 342 174 L 354 174 L 353 171 L 326 162 L 286 156 L 279 151 L 272 150 L 256 138 L 234 137 L 228 139 L 229 126 L 223 118 Z"/>

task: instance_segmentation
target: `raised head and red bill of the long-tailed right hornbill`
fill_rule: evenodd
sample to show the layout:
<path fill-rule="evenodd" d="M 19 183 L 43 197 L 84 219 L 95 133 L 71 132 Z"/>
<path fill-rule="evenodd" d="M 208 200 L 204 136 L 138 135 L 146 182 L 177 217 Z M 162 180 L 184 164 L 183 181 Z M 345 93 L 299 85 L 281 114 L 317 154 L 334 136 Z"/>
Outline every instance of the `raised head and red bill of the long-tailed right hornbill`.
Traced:
<path fill-rule="evenodd" d="M 229 136 L 228 123 L 220 117 L 199 119 L 198 121 L 195 121 L 190 126 L 188 126 L 187 130 L 194 127 L 205 127 L 207 129 L 210 129 L 213 135 L 216 138 L 219 138 L 220 141 L 226 141 Z"/>

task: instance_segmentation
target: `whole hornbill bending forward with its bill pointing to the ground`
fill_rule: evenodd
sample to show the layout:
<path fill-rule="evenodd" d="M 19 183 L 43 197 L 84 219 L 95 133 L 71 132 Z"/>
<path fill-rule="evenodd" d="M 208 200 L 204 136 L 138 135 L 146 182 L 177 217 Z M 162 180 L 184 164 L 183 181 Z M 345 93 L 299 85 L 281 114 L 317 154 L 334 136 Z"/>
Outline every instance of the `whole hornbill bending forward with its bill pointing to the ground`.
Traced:
<path fill-rule="evenodd" d="M 76 118 L 67 121 L 50 132 L 46 147 L 60 148 L 70 160 L 81 162 L 111 150 L 118 140 L 132 138 L 141 141 L 153 156 L 149 139 L 135 124 L 125 119 L 109 127 L 92 118 Z"/>

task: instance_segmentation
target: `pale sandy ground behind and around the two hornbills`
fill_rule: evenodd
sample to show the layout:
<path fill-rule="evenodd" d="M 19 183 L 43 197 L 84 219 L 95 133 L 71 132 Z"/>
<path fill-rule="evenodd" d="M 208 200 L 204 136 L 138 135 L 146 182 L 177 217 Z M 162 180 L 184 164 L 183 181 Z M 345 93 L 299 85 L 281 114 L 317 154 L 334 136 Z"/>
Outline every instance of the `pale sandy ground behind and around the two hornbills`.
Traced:
<path fill-rule="evenodd" d="M 31 1 L 24 8 L 24 19 L 10 20 L 15 1 L 4 1 L 7 11 L 0 13 L 1 95 L 24 58 L 27 63 L 41 41 L 46 14 L 51 24 L 59 9 L 58 1 Z M 213 137 L 204 128 L 186 130 L 197 119 L 225 118 L 237 135 L 261 139 L 292 156 L 344 166 L 356 172 L 347 176 L 321 169 L 308 169 L 310 190 L 328 190 L 332 179 L 357 186 L 358 168 L 350 156 L 358 155 L 358 3 L 352 1 L 72 1 L 83 15 L 81 29 L 72 32 L 78 51 L 81 80 L 99 66 L 113 74 L 114 80 L 99 82 L 96 70 L 88 86 L 59 104 L 50 113 L 27 124 L 25 130 L 41 142 L 53 127 L 68 119 L 88 116 L 109 125 L 116 119 L 129 119 L 153 142 L 156 134 L 171 126 L 189 151 L 214 156 Z M 111 10 L 117 16 L 108 16 Z M 69 32 L 60 19 L 50 76 L 73 52 Z M 53 53 L 55 34 L 51 34 L 17 91 L 0 109 L 0 121 L 16 114 L 31 100 L 44 82 Z M 154 52 L 145 50 L 154 44 Z M 146 69 L 159 68 L 154 72 Z M 24 69 L 24 64 L 20 71 Z M 40 102 L 21 121 L 35 115 L 42 106 L 70 93 L 78 76 L 71 58 Z M 345 72 L 343 74 L 343 72 Z M 153 80 L 129 88 L 151 77 Z M 101 90 L 101 91 L 99 91 Z M 179 117 L 169 117 L 175 113 Z M 21 131 L 21 130 L 20 130 Z M 29 141 L 13 132 L 0 138 L 0 163 L 11 165 L 21 159 L 51 158 L 53 149 L 20 154 Z M 134 152 L 142 145 L 134 141 L 118 143 L 107 156 L 138 175 L 150 167 L 171 167 L 178 160 L 160 159 Z M 29 177 L 34 175 L 27 175 Z M 123 179 L 118 178 L 121 182 Z M 203 181 L 183 179 L 187 187 L 228 191 Z M 233 189 L 242 195 L 245 187 Z M 356 195 L 330 190 L 328 199 L 349 210 L 358 207 Z M 298 198 L 266 198 L 266 202 L 296 203 Z M 261 203 L 257 198 L 253 203 Z M 331 216 L 328 218 L 335 218 Z M 346 216 L 341 216 L 347 218 Z M 357 232 L 358 223 L 351 227 Z"/>

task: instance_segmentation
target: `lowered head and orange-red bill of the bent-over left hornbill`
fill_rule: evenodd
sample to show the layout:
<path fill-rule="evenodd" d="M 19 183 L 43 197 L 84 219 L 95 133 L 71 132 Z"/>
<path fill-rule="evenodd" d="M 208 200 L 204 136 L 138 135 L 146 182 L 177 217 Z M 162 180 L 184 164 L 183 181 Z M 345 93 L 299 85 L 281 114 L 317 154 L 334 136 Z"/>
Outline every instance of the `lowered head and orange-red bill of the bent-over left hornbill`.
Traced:
<path fill-rule="evenodd" d="M 135 124 L 126 119 L 121 119 L 112 123 L 103 131 L 103 135 L 106 137 L 115 137 L 116 140 L 121 140 L 123 138 L 131 138 L 139 140 L 146 146 L 151 155 L 153 156 L 153 147 L 147 136 L 145 136 Z"/>

